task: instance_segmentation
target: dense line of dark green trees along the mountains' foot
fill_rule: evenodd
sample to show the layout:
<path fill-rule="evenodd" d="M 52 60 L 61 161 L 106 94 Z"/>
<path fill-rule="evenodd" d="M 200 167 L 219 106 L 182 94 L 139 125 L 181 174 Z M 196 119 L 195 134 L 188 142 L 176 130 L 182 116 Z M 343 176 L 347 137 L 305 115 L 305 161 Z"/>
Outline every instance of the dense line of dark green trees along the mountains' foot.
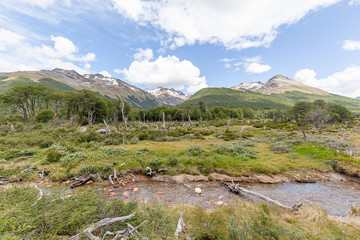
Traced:
<path fill-rule="evenodd" d="M 60 92 L 49 87 L 36 85 L 16 85 L 9 92 L 0 95 L 0 103 L 9 111 L 19 112 L 25 122 L 53 118 L 69 119 L 80 124 L 94 124 L 103 120 L 118 122 L 132 120 L 155 121 L 209 121 L 218 119 L 272 119 L 274 122 L 295 120 L 300 124 L 312 124 L 322 128 L 330 122 L 351 120 L 351 112 L 339 104 L 328 104 L 322 100 L 298 102 L 290 110 L 254 110 L 251 108 L 208 108 L 198 102 L 194 109 L 158 106 L 148 110 L 132 109 L 122 98 L 108 99 L 89 90 Z"/>

